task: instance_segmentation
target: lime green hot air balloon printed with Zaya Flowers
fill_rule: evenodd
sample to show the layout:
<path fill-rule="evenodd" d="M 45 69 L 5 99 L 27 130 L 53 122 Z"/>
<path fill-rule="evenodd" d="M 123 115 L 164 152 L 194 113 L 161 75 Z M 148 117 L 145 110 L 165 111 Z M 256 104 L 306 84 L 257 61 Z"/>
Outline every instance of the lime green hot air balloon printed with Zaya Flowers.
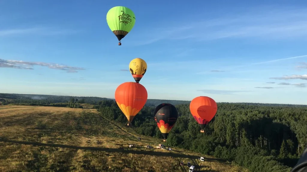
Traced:
<path fill-rule="evenodd" d="M 135 15 L 133 11 L 124 6 L 116 6 L 111 8 L 107 13 L 107 23 L 111 31 L 120 42 L 133 28 L 135 24 Z"/>

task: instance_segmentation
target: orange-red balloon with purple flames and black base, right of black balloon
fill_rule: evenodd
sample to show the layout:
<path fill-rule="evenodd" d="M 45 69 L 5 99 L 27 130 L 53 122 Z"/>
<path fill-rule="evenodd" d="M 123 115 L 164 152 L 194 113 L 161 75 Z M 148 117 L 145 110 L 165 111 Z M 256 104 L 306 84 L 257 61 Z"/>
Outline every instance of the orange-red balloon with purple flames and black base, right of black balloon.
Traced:
<path fill-rule="evenodd" d="M 190 111 L 194 119 L 200 125 L 200 132 L 204 133 L 204 127 L 212 120 L 217 111 L 216 102 L 207 96 L 194 98 L 190 103 Z"/>

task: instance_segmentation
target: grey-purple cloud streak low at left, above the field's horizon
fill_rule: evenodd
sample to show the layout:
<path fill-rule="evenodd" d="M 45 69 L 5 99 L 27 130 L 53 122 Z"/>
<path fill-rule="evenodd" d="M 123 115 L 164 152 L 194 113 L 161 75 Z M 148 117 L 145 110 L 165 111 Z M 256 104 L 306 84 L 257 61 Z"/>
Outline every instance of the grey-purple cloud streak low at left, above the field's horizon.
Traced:
<path fill-rule="evenodd" d="M 45 66 L 49 69 L 57 69 L 57 70 L 64 70 L 67 73 L 76 73 L 79 70 L 85 70 L 81 67 L 73 67 L 68 65 L 59 65 L 55 63 L 44 63 L 44 62 L 24 62 L 24 61 L 17 61 L 17 60 L 4 60 L 0 59 L 0 67 L 2 68 L 15 68 L 15 69 L 34 69 L 33 67 L 37 66 Z"/>

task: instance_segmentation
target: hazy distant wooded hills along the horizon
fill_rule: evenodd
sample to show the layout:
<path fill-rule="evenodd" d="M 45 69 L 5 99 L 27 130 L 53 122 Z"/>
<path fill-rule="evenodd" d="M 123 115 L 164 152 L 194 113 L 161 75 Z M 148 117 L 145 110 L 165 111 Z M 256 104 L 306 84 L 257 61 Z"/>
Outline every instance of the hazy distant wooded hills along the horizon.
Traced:
<path fill-rule="evenodd" d="M 71 99 L 83 100 L 83 103 L 98 104 L 102 100 L 115 100 L 102 97 L 78 97 L 78 96 L 63 96 L 63 95 L 39 95 L 39 94 L 10 94 L 0 93 L 0 99 L 13 99 L 13 100 L 42 100 L 49 103 L 66 103 Z M 161 100 L 161 99 L 148 99 L 146 106 L 157 106 L 161 103 L 171 103 L 173 105 L 188 104 L 191 101 L 185 100 Z M 223 103 L 223 102 L 221 102 Z M 219 103 L 218 103 L 219 104 Z M 254 106 L 281 106 L 281 107 L 307 107 L 307 105 L 293 105 L 293 104 L 270 104 L 270 103 L 234 103 L 242 105 L 254 105 Z"/>

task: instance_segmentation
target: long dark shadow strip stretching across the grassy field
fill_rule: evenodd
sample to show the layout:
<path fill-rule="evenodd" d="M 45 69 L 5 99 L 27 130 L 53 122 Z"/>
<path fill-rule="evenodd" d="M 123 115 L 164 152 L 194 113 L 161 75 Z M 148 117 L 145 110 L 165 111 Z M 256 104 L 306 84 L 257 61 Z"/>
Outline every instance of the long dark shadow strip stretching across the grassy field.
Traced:
<path fill-rule="evenodd" d="M 70 146 L 70 145 L 65 145 L 65 144 L 49 144 L 49 143 L 38 143 L 38 142 L 15 141 L 15 140 L 7 140 L 6 138 L 0 138 L 0 142 L 25 144 L 25 145 L 33 145 L 33 146 L 47 146 L 47 147 L 54 147 L 54 148 L 69 148 L 69 149 L 92 150 L 92 151 L 132 153 L 132 154 L 139 154 L 139 155 L 171 156 L 175 158 L 190 158 L 190 159 L 199 158 L 198 156 L 195 156 L 195 155 L 174 154 L 171 152 L 135 151 L 135 150 L 125 150 L 124 148 L 117 149 L 117 148 L 99 148 L 99 147 L 80 147 L 80 146 Z M 218 159 L 213 159 L 213 158 L 205 158 L 205 160 L 219 161 Z"/>

